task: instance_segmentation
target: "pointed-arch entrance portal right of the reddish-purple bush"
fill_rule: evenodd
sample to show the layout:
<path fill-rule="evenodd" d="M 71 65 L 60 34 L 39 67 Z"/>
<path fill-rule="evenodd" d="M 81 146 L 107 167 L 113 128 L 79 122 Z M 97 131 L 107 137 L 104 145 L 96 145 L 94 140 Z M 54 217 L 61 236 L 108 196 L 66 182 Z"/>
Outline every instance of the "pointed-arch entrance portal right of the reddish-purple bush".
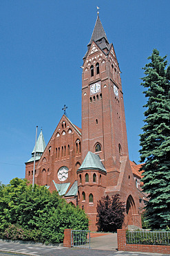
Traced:
<path fill-rule="evenodd" d="M 131 194 L 127 198 L 126 213 L 127 213 L 127 225 L 134 225 L 133 215 L 135 214 L 135 202 Z"/>

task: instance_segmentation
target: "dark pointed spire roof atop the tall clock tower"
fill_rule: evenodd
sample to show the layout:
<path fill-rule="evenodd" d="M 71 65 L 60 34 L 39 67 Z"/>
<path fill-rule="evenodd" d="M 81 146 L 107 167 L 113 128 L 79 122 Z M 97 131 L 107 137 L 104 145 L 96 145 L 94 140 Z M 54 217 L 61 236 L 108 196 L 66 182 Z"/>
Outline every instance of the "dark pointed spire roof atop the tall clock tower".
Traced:
<path fill-rule="evenodd" d="M 91 39 L 90 39 L 90 41 L 89 41 L 88 46 L 89 46 L 90 44 L 92 44 L 93 40 L 94 40 L 94 42 L 96 42 L 96 41 L 98 41 L 98 40 L 100 40 L 100 39 L 102 39 L 102 38 L 105 38 L 105 40 L 106 40 L 107 43 L 109 44 L 109 41 L 108 41 L 108 39 L 107 39 L 105 30 L 104 30 L 104 28 L 103 28 L 103 26 L 102 26 L 102 24 L 101 24 L 100 18 L 99 18 L 99 16 L 98 16 L 97 19 L 96 19 L 96 24 L 95 24 L 95 26 L 94 26 L 94 30 L 93 30 L 93 33 L 92 33 L 92 37 L 91 37 Z"/>

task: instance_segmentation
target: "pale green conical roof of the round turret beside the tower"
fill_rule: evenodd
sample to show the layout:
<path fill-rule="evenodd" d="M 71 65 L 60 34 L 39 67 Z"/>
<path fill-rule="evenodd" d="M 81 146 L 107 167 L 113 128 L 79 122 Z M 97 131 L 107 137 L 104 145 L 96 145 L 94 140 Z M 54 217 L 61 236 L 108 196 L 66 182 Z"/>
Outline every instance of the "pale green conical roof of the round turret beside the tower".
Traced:
<path fill-rule="evenodd" d="M 103 172 L 106 172 L 103 163 L 100 161 L 100 157 L 90 151 L 85 156 L 85 160 L 83 161 L 78 171 L 86 169 L 101 170 Z"/>

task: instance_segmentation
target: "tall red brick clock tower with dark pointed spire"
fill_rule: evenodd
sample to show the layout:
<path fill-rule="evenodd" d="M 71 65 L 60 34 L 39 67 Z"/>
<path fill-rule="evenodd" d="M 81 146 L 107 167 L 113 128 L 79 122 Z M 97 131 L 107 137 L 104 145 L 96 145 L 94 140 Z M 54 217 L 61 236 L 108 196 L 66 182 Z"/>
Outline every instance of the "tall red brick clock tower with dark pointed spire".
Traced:
<path fill-rule="evenodd" d="M 83 57 L 82 131 L 82 160 L 89 151 L 98 154 L 107 185 L 116 185 L 120 156 L 128 156 L 123 90 L 114 46 L 99 16 Z"/>

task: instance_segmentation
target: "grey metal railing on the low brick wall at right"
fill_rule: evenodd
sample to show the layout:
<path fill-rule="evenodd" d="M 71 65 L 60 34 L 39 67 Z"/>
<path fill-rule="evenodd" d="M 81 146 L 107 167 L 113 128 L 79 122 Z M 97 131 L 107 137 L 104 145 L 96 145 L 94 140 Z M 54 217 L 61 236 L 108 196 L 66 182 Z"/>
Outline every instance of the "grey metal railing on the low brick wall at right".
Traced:
<path fill-rule="evenodd" d="M 127 231 L 127 244 L 162 244 L 170 245 L 169 231 Z"/>

